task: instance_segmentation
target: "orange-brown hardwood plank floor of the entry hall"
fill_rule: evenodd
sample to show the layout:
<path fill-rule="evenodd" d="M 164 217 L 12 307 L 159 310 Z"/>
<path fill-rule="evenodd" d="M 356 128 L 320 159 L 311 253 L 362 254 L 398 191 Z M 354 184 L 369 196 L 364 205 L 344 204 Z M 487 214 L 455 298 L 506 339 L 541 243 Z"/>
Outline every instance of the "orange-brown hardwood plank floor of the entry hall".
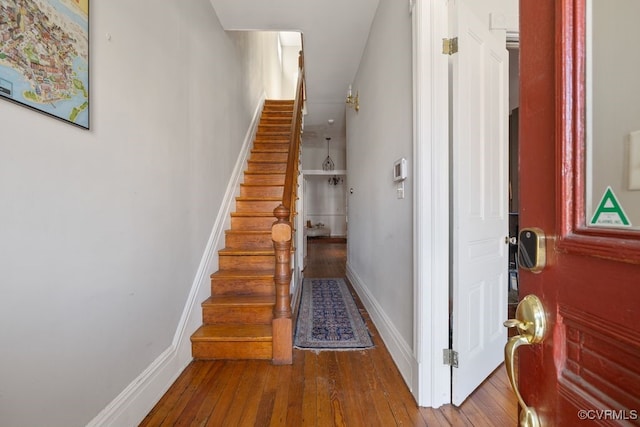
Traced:
<path fill-rule="evenodd" d="M 308 245 L 306 277 L 344 277 L 346 245 Z M 353 293 L 353 290 L 352 290 Z M 293 364 L 194 361 L 141 426 L 515 426 L 499 367 L 456 408 L 419 408 L 357 295 L 373 336 L 365 351 L 294 350 Z"/>

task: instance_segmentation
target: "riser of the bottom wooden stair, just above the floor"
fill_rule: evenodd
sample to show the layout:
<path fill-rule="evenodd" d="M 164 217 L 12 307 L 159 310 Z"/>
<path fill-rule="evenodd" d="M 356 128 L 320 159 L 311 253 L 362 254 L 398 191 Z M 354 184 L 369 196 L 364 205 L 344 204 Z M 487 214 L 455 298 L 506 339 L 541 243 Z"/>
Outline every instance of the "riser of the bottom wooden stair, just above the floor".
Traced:
<path fill-rule="evenodd" d="M 194 359 L 271 359 L 271 342 L 192 342 Z"/>

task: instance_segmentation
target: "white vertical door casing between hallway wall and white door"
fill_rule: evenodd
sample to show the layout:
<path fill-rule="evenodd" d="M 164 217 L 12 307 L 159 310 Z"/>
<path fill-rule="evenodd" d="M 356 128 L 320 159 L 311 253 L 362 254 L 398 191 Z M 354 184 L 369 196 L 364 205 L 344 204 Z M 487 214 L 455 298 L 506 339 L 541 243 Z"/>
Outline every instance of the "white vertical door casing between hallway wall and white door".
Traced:
<path fill-rule="evenodd" d="M 418 0 L 413 12 L 414 342 L 419 406 L 450 402 L 449 347 L 449 74 L 441 51 L 448 1 Z"/>

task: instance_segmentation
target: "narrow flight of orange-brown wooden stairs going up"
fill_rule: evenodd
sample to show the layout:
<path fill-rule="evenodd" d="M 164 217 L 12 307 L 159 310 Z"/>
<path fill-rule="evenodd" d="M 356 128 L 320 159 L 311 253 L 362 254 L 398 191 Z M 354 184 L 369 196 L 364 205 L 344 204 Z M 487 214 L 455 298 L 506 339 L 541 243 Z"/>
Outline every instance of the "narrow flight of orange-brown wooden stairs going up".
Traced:
<path fill-rule="evenodd" d="M 203 325 L 191 336 L 195 359 L 272 359 L 276 258 L 274 209 L 282 203 L 294 101 L 265 101 Z"/>

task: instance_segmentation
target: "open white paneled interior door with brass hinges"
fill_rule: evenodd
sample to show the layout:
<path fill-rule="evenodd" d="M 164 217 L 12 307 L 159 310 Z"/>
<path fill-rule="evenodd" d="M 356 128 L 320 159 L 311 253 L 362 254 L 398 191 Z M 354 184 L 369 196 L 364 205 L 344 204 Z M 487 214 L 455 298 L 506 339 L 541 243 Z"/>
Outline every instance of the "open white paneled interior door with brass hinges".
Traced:
<path fill-rule="evenodd" d="M 456 1 L 452 72 L 452 402 L 503 361 L 507 318 L 508 54 Z M 454 33 L 454 34 L 455 34 Z"/>

